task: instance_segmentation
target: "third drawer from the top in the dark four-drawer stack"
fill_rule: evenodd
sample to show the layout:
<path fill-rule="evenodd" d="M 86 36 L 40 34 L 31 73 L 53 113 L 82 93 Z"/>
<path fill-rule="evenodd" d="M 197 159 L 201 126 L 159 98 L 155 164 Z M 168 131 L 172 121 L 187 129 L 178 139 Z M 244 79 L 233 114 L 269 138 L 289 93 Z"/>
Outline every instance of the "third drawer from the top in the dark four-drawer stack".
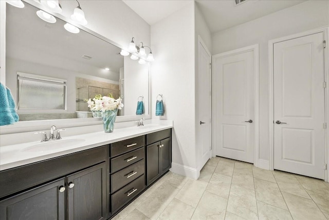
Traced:
<path fill-rule="evenodd" d="M 129 182 L 137 179 L 140 175 L 145 172 L 145 161 L 140 160 L 137 163 L 132 164 L 131 166 L 120 170 L 119 172 L 111 175 L 111 192 L 114 193 L 121 187 Z"/>

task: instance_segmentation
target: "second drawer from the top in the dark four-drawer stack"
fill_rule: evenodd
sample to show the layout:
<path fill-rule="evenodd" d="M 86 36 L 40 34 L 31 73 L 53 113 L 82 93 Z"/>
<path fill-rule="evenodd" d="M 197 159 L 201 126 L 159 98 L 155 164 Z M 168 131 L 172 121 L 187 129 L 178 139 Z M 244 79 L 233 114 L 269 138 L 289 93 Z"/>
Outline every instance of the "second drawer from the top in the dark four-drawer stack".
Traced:
<path fill-rule="evenodd" d="M 122 168 L 125 168 L 145 157 L 144 148 L 131 151 L 129 153 L 123 154 L 121 156 L 111 159 L 111 173 L 115 173 Z"/>

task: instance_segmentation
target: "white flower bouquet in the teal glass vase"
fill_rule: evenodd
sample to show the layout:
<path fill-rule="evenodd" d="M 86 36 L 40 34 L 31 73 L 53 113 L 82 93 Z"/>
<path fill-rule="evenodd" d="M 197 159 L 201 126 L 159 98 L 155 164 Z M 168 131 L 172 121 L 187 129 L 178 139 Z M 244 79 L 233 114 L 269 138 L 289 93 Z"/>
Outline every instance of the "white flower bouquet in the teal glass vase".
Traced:
<path fill-rule="evenodd" d="M 108 96 L 96 95 L 94 99 L 88 99 L 88 107 L 90 111 L 114 111 L 115 109 L 122 109 L 123 103 L 122 99 L 119 97 L 118 99 L 114 99 L 112 94 L 108 94 Z"/>

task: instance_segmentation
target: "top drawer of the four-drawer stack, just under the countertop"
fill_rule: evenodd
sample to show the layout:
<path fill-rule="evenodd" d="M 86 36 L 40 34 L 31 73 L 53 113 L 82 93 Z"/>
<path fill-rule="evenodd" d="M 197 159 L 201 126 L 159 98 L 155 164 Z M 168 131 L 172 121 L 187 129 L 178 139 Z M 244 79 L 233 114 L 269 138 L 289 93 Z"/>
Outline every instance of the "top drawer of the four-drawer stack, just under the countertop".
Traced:
<path fill-rule="evenodd" d="M 119 142 L 111 143 L 111 157 L 124 154 L 145 145 L 145 137 L 139 136 Z"/>

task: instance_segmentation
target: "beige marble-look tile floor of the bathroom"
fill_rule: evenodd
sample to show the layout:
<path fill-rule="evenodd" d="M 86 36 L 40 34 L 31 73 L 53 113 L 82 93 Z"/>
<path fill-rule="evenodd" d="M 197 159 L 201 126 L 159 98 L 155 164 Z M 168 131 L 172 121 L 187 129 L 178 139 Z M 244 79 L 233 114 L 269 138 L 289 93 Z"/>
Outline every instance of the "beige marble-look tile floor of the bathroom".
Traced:
<path fill-rule="evenodd" d="M 329 184 L 214 157 L 198 180 L 169 172 L 113 219 L 329 219 Z"/>

